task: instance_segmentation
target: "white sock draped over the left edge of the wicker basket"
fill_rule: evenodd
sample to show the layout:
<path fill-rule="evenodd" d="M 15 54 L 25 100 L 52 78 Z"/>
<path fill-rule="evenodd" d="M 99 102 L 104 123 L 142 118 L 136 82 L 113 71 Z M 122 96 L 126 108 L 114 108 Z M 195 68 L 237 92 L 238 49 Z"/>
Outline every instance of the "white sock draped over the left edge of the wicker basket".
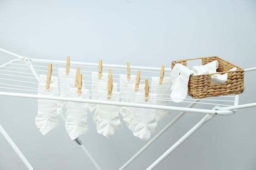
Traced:
<path fill-rule="evenodd" d="M 173 102 L 182 102 L 186 98 L 186 95 L 188 94 L 189 76 L 191 73 L 193 73 L 193 71 L 186 66 L 183 66 L 180 71 L 180 75 L 172 86 L 173 91 L 171 92 L 171 99 Z"/>

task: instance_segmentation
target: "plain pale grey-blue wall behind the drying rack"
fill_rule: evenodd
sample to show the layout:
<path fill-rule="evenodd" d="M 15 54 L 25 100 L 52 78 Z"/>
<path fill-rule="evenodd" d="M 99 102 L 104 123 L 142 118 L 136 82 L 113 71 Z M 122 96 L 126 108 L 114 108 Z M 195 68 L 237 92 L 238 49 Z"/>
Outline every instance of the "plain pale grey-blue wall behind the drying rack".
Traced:
<path fill-rule="evenodd" d="M 72 61 L 171 67 L 172 60 L 218 55 L 251 68 L 255 30 L 255 0 L 0 0 L 0 48 L 29 58 L 70 55 Z M 1 64 L 14 59 L 0 55 Z M 255 71 L 246 72 L 240 104 L 256 102 L 255 95 Z M 1 96 L 0 101 L 0 124 L 36 170 L 95 169 L 64 123 L 40 134 L 36 99 Z M 186 114 L 126 169 L 146 169 L 201 118 Z M 255 108 L 216 116 L 155 169 L 255 170 L 255 120 Z M 90 131 L 80 139 L 103 170 L 117 170 L 146 144 L 127 128 L 107 139 L 88 124 Z M 26 169 L 0 135 L 0 170 Z"/>

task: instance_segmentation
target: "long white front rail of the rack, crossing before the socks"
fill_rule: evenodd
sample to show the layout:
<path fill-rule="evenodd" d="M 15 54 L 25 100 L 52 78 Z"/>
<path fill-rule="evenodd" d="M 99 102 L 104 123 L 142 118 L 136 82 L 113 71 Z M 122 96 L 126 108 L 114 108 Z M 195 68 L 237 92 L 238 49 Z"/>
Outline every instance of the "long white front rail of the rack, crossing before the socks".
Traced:
<path fill-rule="evenodd" d="M 215 115 L 215 114 L 232 115 L 235 113 L 232 110 L 207 110 L 207 109 L 199 109 L 199 108 L 183 108 L 183 107 L 176 107 L 176 106 L 161 106 L 161 105 L 138 104 L 138 103 L 127 103 L 127 102 L 112 102 L 112 101 L 103 101 L 103 100 L 95 100 L 95 99 L 79 99 L 79 98 L 72 98 L 72 97 L 34 95 L 34 94 L 25 94 L 25 93 L 0 92 L 0 95 L 14 96 L 14 97 L 28 97 L 28 98 L 35 98 L 35 99 L 62 100 L 62 101 L 82 102 L 82 103 L 92 103 L 92 104 L 107 104 L 107 105 L 128 106 L 128 107 L 138 107 L 138 108 L 152 108 L 152 109 L 162 109 L 162 110 L 203 113 L 203 114 L 211 114 L 211 115 Z"/>

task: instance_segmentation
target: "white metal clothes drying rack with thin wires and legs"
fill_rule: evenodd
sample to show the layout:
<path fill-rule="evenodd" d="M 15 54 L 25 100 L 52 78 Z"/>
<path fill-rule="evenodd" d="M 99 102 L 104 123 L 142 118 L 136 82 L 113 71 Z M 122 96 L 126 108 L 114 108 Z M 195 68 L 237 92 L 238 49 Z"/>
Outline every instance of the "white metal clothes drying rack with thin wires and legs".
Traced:
<path fill-rule="evenodd" d="M 198 130 L 207 121 L 212 119 L 216 115 L 233 115 L 236 110 L 242 108 L 255 107 L 256 103 L 251 104 L 238 104 L 239 95 L 225 95 L 218 97 L 205 97 L 202 99 L 193 99 L 189 95 L 186 96 L 184 101 L 180 103 L 173 102 L 170 98 L 168 99 L 169 106 L 161 105 L 150 105 L 150 104 L 138 104 L 138 103 L 128 103 L 128 102 L 112 102 L 112 101 L 101 101 L 96 99 L 79 99 L 72 97 L 61 97 L 61 96 L 46 96 L 37 94 L 37 85 L 39 82 L 39 75 L 47 75 L 49 68 L 49 63 L 52 64 L 52 75 L 58 77 L 58 68 L 81 68 L 81 74 L 83 75 L 83 85 L 85 88 L 91 89 L 91 73 L 92 71 L 103 73 L 112 71 L 112 81 L 118 82 L 120 74 L 136 75 L 140 71 L 140 76 L 138 79 L 139 84 L 145 84 L 146 80 L 150 79 L 152 76 L 169 77 L 171 74 L 171 68 L 162 67 L 146 67 L 146 66 L 130 66 L 129 63 L 126 65 L 115 65 L 115 64 L 105 64 L 99 60 L 99 63 L 85 63 L 85 62 L 72 62 L 72 61 L 59 61 L 59 60 L 42 60 L 42 59 L 32 59 L 20 56 L 18 54 L 0 49 L 2 53 L 7 53 L 11 56 L 16 57 L 14 60 L 10 60 L 7 63 L 0 65 L 0 95 L 2 96 L 13 96 L 13 97 L 27 97 L 35 99 L 51 99 L 51 100 L 61 100 L 70 102 L 84 102 L 88 104 L 106 104 L 115 106 L 128 106 L 137 108 L 151 108 L 160 110 L 171 110 L 180 112 L 171 122 L 169 122 L 163 129 L 143 146 L 134 156 L 132 156 L 119 170 L 124 170 L 132 161 L 134 161 L 144 150 L 146 150 L 154 141 L 156 141 L 168 128 L 170 128 L 177 120 L 179 120 L 185 113 L 202 113 L 205 114 L 203 119 L 201 119 L 195 126 L 193 126 L 184 136 L 182 136 L 173 146 L 171 146 L 164 154 L 162 154 L 155 162 L 153 162 L 147 170 L 154 169 L 159 163 L 161 163 L 168 155 L 171 154 L 177 147 L 179 147 L 186 139 L 188 139 L 196 130 Z M 67 63 L 68 62 L 68 63 Z M 254 68 L 244 69 L 247 71 L 254 71 Z M 150 86 L 149 86 L 150 88 Z M 120 89 L 119 89 L 120 90 Z M 197 107 L 198 106 L 198 107 Z M 203 106 L 203 107 L 202 107 Z M 209 109 L 204 109 L 205 107 Z M 65 117 L 60 114 L 61 118 L 65 121 Z M 0 125 L 0 132 L 9 142 L 11 147 L 15 150 L 20 159 L 25 163 L 29 170 L 34 170 L 29 161 L 25 158 L 16 144 L 9 137 L 4 128 Z M 77 144 L 81 146 L 81 149 L 88 156 L 90 161 L 94 164 L 97 170 L 101 170 L 97 161 L 92 157 L 90 152 L 85 148 L 83 142 L 77 138 Z"/>

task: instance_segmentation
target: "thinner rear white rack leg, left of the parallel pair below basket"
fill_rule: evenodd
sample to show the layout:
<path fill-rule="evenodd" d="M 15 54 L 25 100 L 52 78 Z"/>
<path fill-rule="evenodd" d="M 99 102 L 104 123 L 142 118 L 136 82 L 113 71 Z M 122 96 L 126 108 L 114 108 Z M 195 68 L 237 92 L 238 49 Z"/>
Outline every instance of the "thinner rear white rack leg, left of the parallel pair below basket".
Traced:
<path fill-rule="evenodd" d="M 195 106 L 196 102 L 199 100 L 194 100 L 193 103 L 189 104 L 187 108 L 192 108 Z M 168 130 L 173 124 L 175 124 L 176 121 L 178 121 L 186 112 L 181 112 L 179 115 L 177 115 L 168 125 L 166 125 L 160 132 L 157 133 L 145 146 L 143 146 L 135 155 L 133 155 L 126 163 L 124 163 L 119 170 L 124 170 L 132 161 L 134 161 L 144 150 L 146 150 L 153 142 L 155 142 L 166 130 Z"/>

